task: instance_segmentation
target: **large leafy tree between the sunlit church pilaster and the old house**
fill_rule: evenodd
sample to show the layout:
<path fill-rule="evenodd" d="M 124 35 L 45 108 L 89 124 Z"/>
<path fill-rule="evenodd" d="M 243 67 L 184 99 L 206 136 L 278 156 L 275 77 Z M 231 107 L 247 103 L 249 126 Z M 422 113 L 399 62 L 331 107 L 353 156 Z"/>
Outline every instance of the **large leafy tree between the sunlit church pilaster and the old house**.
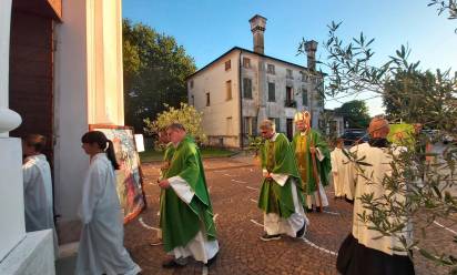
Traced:
<path fill-rule="evenodd" d="M 143 120 L 154 120 L 170 106 L 187 102 L 186 77 L 195 72 L 194 60 L 173 37 L 151 27 L 122 22 L 125 124 L 142 132 Z"/>

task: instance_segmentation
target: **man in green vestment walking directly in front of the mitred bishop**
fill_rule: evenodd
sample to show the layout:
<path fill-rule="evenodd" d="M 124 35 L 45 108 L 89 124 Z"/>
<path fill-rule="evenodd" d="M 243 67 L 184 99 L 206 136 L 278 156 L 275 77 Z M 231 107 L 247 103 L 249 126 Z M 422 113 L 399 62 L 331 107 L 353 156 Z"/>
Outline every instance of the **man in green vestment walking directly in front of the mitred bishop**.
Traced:
<path fill-rule="evenodd" d="M 282 234 L 302 237 L 308 220 L 291 144 L 284 134 L 275 132 L 272 121 L 263 121 L 260 129 L 265 139 L 261 149 L 263 183 L 258 198 L 265 233 L 261 240 L 280 240 Z"/>

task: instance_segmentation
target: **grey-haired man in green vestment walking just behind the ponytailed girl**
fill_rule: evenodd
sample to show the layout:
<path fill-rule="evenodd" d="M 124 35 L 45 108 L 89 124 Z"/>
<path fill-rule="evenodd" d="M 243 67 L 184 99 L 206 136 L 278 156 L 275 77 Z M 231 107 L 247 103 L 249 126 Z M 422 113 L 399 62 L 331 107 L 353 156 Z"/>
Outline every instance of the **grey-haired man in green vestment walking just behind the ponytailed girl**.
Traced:
<path fill-rule="evenodd" d="M 200 151 L 182 124 L 173 123 L 166 132 L 174 153 L 159 182 L 164 190 L 160 224 L 164 248 L 174 258 L 162 266 L 181 267 L 189 256 L 211 265 L 216 258 L 219 243 Z"/>

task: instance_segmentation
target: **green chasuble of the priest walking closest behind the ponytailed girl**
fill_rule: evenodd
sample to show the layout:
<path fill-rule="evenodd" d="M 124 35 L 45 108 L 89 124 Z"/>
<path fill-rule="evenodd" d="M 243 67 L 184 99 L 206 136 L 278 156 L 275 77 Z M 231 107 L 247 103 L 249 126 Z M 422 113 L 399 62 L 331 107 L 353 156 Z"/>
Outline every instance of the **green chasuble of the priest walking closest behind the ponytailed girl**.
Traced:
<path fill-rule="evenodd" d="M 171 159 L 165 177 L 172 176 L 181 176 L 186 181 L 195 195 L 187 205 L 171 186 L 164 190 L 160 224 L 165 251 L 185 246 L 199 231 L 206 234 L 209 241 L 215 240 L 213 207 L 206 189 L 200 151 L 189 136 L 180 142 Z"/>

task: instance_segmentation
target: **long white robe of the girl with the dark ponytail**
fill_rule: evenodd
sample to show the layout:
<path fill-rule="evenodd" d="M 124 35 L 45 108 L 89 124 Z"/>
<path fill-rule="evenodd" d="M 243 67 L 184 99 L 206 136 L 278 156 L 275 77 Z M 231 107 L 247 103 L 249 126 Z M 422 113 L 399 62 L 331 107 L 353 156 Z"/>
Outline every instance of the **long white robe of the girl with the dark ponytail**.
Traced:
<path fill-rule="evenodd" d="M 123 245 L 123 216 L 115 184 L 114 170 L 106 154 L 94 155 L 82 189 L 79 215 L 83 227 L 77 275 L 135 275 L 141 272 Z"/>

